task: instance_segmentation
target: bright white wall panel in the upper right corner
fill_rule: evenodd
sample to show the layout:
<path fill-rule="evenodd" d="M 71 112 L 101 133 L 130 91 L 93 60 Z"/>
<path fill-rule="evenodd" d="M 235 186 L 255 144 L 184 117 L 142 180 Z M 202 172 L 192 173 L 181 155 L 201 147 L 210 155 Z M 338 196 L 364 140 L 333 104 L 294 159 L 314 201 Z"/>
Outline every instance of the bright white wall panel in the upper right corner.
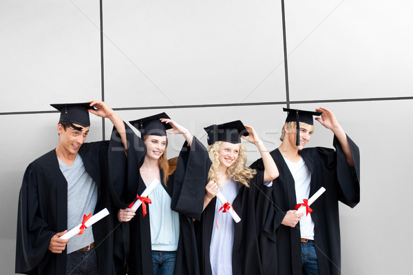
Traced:
<path fill-rule="evenodd" d="M 292 101 L 412 96 L 413 2 L 286 1 Z"/>

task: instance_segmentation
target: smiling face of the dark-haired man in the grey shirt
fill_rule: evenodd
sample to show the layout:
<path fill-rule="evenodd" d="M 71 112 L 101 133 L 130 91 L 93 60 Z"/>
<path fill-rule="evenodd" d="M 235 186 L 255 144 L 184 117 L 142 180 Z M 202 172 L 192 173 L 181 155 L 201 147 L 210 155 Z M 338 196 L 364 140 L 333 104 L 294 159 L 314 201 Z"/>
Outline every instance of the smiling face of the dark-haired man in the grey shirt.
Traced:
<path fill-rule="evenodd" d="M 76 127 L 82 127 L 74 123 Z M 59 132 L 59 144 L 57 147 L 63 154 L 77 154 L 81 145 L 85 142 L 86 136 L 89 133 L 89 127 L 83 127 L 81 131 L 74 130 L 68 126 L 66 129 L 59 123 L 57 125 L 57 132 Z"/>

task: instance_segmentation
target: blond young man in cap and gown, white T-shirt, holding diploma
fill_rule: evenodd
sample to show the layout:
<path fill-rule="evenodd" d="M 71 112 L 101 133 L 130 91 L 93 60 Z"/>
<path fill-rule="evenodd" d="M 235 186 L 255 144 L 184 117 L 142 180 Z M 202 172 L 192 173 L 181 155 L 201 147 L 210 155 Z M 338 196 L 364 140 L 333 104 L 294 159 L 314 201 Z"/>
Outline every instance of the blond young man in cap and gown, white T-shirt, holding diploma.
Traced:
<path fill-rule="evenodd" d="M 346 135 L 335 115 L 326 108 L 316 112 L 284 108 L 288 112 L 282 144 L 271 156 L 279 177 L 273 181 L 273 208 L 267 218 L 277 241 L 278 275 L 340 274 L 339 204 L 354 207 L 360 200 L 359 148 Z M 335 150 L 306 147 L 314 131 L 313 116 L 334 134 Z M 259 159 L 251 167 L 262 170 Z M 320 187 L 322 194 L 310 208 L 295 214 Z"/>

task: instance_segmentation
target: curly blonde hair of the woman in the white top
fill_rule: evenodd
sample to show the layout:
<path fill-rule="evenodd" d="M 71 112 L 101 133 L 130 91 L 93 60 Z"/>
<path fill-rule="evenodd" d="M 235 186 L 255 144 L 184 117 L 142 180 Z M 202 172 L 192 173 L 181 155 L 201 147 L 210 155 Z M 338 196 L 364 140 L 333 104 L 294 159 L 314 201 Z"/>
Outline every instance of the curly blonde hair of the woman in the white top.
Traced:
<path fill-rule="evenodd" d="M 208 179 L 209 181 L 215 181 L 219 183 L 219 171 L 220 171 L 220 150 L 224 141 L 217 141 L 208 147 L 209 159 L 212 161 L 211 168 L 209 169 Z M 230 179 L 240 182 L 246 187 L 249 187 L 248 180 L 252 179 L 257 171 L 245 166 L 246 163 L 246 147 L 240 143 L 240 152 L 238 158 L 233 164 L 226 170 L 226 174 Z"/>

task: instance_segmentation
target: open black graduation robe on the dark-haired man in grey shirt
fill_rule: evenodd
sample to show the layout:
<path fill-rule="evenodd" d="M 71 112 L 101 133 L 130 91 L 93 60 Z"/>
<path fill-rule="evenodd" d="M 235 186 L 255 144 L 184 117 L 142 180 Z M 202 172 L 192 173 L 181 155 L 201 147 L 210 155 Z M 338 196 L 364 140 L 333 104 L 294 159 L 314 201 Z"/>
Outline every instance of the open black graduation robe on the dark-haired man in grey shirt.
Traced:
<path fill-rule="evenodd" d="M 113 254 L 119 253 L 114 249 L 112 229 L 118 221 L 108 173 L 109 166 L 114 170 L 120 168 L 116 157 L 112 157 L 111 165 L 108 163 L 108 152 L 112 151 L 109 148 L 114 147 L 124 154 L 120 139 L 83 143 L 78 150 L 87 174 L 98 186 L 94 213 L 105 207 L 109 210 L 109 216 L 92 227 L 99 274 L 119 274 L 121 268 L 112 260 Z M 47 247 L 54 234 L 70 229 L 67 228 L 67 181 L 59 168 L 56 151 L 52 150 L 30 163 L 23 176 L 17 216 L 16 273 L 66 274 L 66 250 L 55 254 Z"/>

